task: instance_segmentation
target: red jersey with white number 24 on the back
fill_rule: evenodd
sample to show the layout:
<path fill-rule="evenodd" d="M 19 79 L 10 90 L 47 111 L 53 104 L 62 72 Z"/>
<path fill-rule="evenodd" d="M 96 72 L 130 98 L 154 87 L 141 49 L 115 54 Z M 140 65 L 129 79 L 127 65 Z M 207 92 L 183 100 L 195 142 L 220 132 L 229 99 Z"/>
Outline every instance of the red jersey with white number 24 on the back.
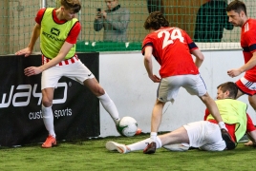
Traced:
<path fill-rule="evenodd" d="M 148 34 L 142 44 L 153 47 L 153 56 L 160 64 L 161 78 L 199 74 L 190 52 L 198 47 L 181 28 L 160 28 Z"/>

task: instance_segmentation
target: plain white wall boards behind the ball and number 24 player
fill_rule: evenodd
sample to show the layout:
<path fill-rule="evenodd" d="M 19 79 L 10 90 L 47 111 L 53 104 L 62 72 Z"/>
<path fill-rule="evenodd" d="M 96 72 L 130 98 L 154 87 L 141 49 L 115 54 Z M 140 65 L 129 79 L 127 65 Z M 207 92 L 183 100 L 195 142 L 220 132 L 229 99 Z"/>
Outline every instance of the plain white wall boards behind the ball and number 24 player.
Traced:
<path fill-rule="evenodd" d="M 216 97 L 217 86 L 235 82 L 226 71 L 244 64 L 241 50 L 203 51 L 204 61 L 200 72 L 211 97 Z M 159 64 L 154 61 L 154 72 L 159 75 Z M 151 111 L 157 97 L 158 84 L 147 76 L 140 52 L 99 55 L 99 83 L 117 105 L 120 117 L 131 116 L 139 123 L 142 132 L 150 132 Z M 247 96 L 240 98 L 247 102 Z M 165 104 L 160 131 L 171 131 L 184 123 L 203 120 L 205 106 L 197 96 L 189 95 L 181 88 L 174 104 Z M 256 115 L 250 105 L 248 113 L 253 122 Z M 100 137 L 118 136 L 116 127 L 108 113 L 100 105 Z"/>

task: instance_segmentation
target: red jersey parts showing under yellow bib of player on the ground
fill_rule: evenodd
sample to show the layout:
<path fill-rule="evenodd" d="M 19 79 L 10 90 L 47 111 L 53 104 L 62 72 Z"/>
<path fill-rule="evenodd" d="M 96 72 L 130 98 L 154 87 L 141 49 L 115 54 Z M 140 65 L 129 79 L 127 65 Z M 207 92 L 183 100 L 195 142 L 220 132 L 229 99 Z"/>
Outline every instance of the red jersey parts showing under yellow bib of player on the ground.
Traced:
<path fill-rule="evenodd" d="M 204 118 L 203 118 L 204 121 L 206 121 L 209 114 L 210 114 L 209 110 L 206 108 L 205 115 L 204 115 Z M 251 120 L 251 118 L 249 117 L 248 114 L 246 114 L 246 117 L 247 117 L 246 132 L 251 132 L 251 131 L 255 130 L 255 126 L 252 123 L 252 120 Z M 208 122 L 217 123 L 217 121 L 215 121 L 215 120 L 208 120 Z M 232 139 L 237 142 L 236 136 L 235 136 L 236 124 L 227 124 L 227 123 L 224 123 L 224 124 L 225 124 L 225 127 L 227 128 L 230 136 L 232 137 Z"/>

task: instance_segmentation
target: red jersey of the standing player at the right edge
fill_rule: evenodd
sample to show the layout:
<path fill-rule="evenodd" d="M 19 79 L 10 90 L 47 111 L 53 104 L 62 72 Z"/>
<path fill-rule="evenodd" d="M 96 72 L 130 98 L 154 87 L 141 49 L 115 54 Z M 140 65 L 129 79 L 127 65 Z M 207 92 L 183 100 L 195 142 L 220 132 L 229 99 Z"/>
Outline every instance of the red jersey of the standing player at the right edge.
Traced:
<path fill-rule="evenodd" d="M 245 63 L 247 63 L 252 53 L 256 51 L 256 20 L 248 19 L 241 32 L 241 47 L 243 47 L 243 53 Z M 250 82 L 256 82 L 256 66 L 253 66 L 245 72 L 245 79 Z"/>

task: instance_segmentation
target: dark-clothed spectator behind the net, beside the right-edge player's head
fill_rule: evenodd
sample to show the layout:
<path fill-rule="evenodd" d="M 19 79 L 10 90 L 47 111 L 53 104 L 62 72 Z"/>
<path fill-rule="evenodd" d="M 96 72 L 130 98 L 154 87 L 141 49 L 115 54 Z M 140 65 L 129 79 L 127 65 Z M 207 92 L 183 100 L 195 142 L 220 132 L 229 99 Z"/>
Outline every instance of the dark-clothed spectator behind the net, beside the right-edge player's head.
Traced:
<path fill-rule="evenodd" d="M 226 0 L 209 0 L 197 13 L 195 42 L 221 42 L 224 28 L 231 30 L 225 8 Z"/>

